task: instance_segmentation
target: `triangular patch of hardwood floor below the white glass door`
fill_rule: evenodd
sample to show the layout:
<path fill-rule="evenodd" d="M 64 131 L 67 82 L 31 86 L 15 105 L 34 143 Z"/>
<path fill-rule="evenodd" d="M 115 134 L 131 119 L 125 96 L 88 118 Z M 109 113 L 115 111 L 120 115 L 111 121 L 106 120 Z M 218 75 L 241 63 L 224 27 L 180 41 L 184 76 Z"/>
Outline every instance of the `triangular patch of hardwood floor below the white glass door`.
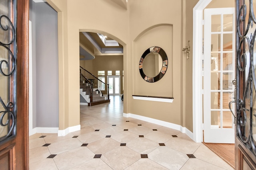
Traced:
<path fill-rule="evenodd" d="M 204 143 L 204 145 L 235 168 L 235 144 Z"/>

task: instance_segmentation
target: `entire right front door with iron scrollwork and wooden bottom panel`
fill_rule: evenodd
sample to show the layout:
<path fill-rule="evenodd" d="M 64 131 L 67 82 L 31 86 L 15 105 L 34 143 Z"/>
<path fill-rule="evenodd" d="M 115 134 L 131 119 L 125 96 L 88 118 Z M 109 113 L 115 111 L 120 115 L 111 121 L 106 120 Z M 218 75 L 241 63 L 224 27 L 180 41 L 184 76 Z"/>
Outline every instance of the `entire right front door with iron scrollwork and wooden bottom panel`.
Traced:
<path fill-rule="evenodd" d="M 236 169 L 256 169 L 256 2 L 236 0 Z"/>

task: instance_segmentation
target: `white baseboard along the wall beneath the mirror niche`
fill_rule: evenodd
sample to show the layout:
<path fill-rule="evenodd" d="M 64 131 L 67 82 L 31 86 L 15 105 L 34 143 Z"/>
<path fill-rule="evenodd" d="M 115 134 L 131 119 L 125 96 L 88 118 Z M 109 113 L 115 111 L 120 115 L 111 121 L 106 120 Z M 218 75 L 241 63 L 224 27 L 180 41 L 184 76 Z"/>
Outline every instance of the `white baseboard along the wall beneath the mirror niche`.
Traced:
<path fill-rule="evenodd" d="M 135 114 L 132 114 L 132 113 L 123 113 L 123 116 L 124 117 L 132 117 L 134 119 L 147 121 L 147 122 L 154 123 L 154 124 L 157 124 L 157 125 L 161 125 L 161 126 L 164 126 L 164 127 L 169 127 L 169 128 L 178 130 L 182 133 L 186 133 L 186 135 L 188 135 L 191 139 L 193 139 L 193 133 L 190 130 L 188 130 L 186 127 L 182 127 L 181 125 L 176 125 L 174 123 L 170 123 L 170 122 L 166 122 L 166 121 L 162 121 L 162 120 L 158 120 L 158 119 L 153 119 L 153 118 L 145 117 L 145 116 L 141 116 L 141 115 L 135 115 Z"/>

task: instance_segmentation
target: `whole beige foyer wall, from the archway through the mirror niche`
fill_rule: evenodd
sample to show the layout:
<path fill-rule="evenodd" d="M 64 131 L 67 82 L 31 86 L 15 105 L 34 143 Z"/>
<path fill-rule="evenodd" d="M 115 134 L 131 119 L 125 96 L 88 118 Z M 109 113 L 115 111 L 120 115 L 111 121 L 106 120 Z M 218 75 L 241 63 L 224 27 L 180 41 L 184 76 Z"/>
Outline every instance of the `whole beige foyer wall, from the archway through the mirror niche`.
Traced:
<path fill-rule="evenodd" d="M 196 0 L 187 4 L 185 0 L 129 0 L 128 10 L 107 0 L 48 2 L 59 16 L 60 130 L 80 124 L 79 31 L 92 31 L 124 46 L 124 113 L 175 123 L 192 131 L 192 57 L 185 60 L 182 48 L 187 41 L 185 34 L 192 42 L 191 19 L 185 20 L 188 29 L 183 21 L 184 16 L 192 17 L 193 6 L 189 4 L 196 4 Z M 165 76 L 156 83 L 144 81 L 138 69 L 142 53 L 152 46 L 162 47 L 169 60 Z M 132 95 L 138 94 L 174 97 L 174 102 L 134 100 Z"/>

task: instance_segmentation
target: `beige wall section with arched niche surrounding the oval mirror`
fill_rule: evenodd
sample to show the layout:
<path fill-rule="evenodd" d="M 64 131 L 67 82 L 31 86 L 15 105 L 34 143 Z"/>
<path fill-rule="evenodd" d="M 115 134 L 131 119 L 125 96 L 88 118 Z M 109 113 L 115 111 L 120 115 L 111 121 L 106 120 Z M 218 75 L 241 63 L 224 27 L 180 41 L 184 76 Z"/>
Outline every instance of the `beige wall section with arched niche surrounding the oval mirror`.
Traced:
<path fill-rule="evenodd" d="M 129 86 L 133 88 L 128 96 L 132 106 L 128 107 L 128 113 L 182 125 L 181 1 L 155 2 L 156 4 L 148 3 L 148 0 L 132 0 L 129 3 L 130 43 L 132 44 L 129 54 L 132 54 L 130 66 L 133 66 L 133 77 Z M 155 83 L 144 81 L 138 69 L 142 53 L 152 46 L 162 47 L 168 56 L 166 74 Z M 174 102 L 133 100 L 132 95 L 174 97 Z"/>

